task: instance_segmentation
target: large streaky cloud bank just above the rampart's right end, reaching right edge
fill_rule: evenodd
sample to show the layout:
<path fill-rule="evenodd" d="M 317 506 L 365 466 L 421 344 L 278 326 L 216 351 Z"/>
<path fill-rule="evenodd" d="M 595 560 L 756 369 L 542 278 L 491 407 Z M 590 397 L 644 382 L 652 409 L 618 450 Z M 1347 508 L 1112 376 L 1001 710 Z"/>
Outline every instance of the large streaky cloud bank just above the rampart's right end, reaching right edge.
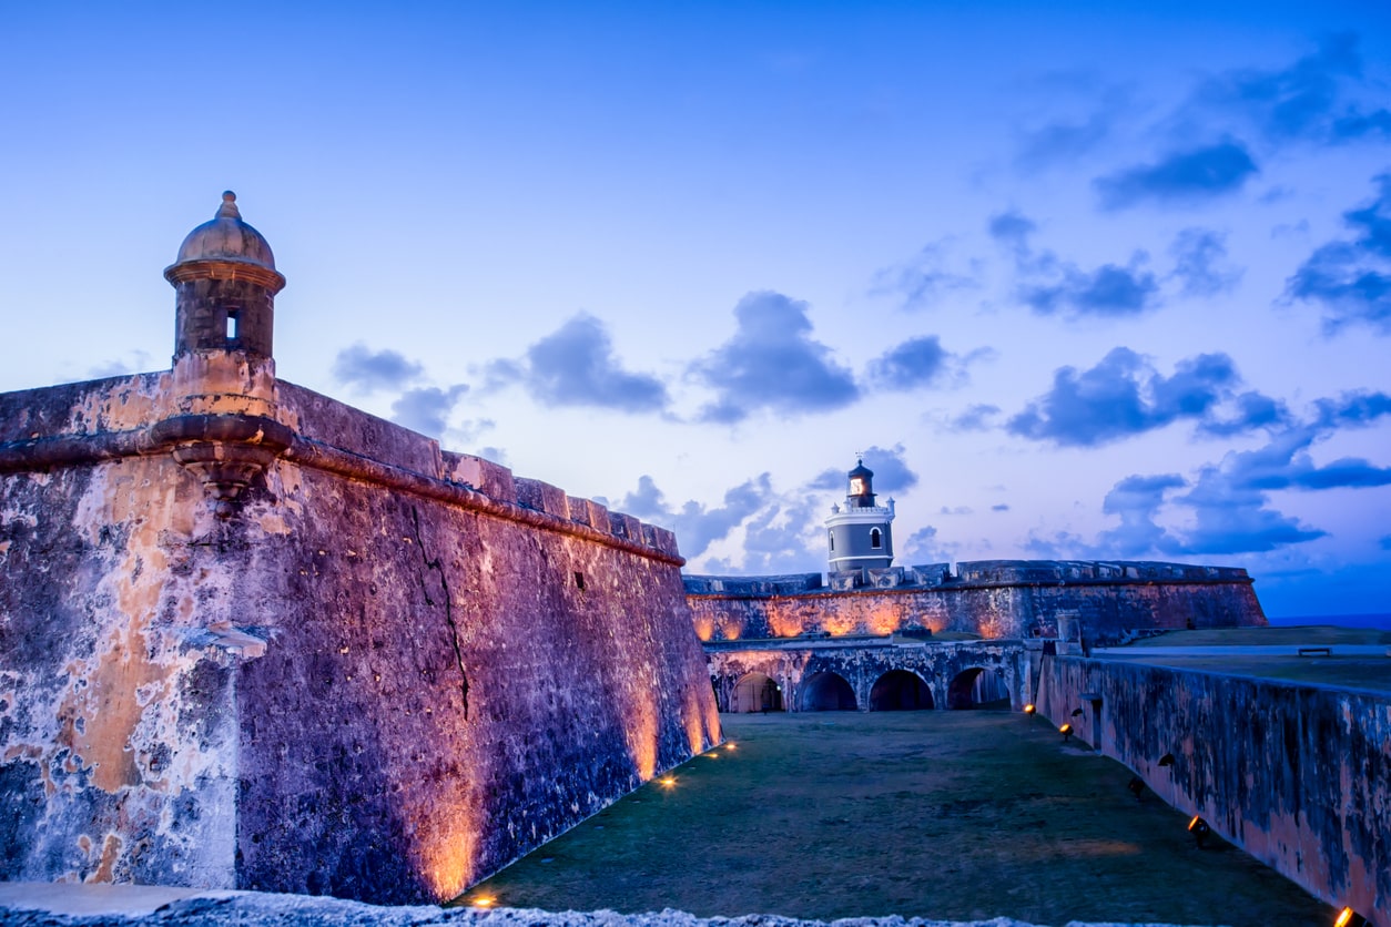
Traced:
<path fill-rule="evenodd" d="M 1202 467 L 1193 481 L 1178 474 L 1132 475 L 1106 496 L 1120 525 L 1097 538 L 1110 556 L 1259 553 L 1313 541 L 1327 532 L 1271 507 L 1274 491 L 1321 492 L 1391 485 L 1391 467 L 1360 457 L 1314 463 L 1310 449 L 1341 428 L 1365 428 L 1391 416 L 1391 396 L 1351 393 L 1314 403 L 1314 414 L 1289 423 L 1262 448 L 1232 452 Z M 1163 524 L 1164 516 L 1171 514 Z"/>

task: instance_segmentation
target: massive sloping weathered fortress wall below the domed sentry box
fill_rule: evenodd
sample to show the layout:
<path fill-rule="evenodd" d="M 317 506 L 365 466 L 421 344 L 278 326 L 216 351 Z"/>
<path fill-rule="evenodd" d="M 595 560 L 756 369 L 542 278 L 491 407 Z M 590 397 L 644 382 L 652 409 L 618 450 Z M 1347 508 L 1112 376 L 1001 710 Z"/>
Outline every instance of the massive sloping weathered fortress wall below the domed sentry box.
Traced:
<path fill-rule="evenodd" d="M 719 739 L 669 532 L 172 377 L 0 395 L 0 880 L 437 901 Z"/>

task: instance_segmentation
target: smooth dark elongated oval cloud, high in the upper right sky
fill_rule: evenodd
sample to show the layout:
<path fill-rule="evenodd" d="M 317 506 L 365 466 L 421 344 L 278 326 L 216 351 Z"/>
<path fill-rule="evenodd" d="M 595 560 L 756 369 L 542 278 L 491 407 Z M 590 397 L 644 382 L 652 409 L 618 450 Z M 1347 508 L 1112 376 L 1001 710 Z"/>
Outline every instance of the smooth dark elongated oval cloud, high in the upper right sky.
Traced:
<path fill-rule="evenodd" d="M 1246 147 L 1227 140 L 1099 177 L 1092 186 L 1107 210 L 1142 203 L 1191 204 L 1234 193 L 1257 172 Z"/>

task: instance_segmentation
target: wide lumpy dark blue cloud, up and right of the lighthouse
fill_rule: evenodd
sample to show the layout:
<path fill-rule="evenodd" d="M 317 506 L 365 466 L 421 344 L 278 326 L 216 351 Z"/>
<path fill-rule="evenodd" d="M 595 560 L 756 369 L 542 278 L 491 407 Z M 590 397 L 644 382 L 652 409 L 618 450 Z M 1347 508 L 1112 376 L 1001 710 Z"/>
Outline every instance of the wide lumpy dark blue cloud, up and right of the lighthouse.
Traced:
<path fill-rule="evenodd" d="M 1053 388 L 1006 423 L 1010 434 L 1092 448 L 1177 421 L 1202 418 L 1241 382 L 1231 357 L 1198 354 L 1163 377 L 1128 347 L 1096 367 L 1061 367 Z"/>

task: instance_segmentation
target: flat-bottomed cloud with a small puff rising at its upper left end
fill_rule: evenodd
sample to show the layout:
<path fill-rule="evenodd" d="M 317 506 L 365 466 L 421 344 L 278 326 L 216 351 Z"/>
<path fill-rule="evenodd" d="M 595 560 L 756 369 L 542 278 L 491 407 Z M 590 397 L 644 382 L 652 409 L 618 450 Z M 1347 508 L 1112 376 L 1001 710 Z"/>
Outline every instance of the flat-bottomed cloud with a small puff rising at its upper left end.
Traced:
<path fill-rule="evenodd" d="M 1014 261 L 1017 297 L 1040 315 L 1136 315 L 1157 304 L 1159 281 L 1145 270 L 1149 256 L 1142 250 L 1134 252 L 1124 267 L 1102 264 L 1086 271 L 1052 250 L 1035 250 L 1029 238 L 1038 225 L 1022 213 L 996 214 L 988 228 Z"/>

